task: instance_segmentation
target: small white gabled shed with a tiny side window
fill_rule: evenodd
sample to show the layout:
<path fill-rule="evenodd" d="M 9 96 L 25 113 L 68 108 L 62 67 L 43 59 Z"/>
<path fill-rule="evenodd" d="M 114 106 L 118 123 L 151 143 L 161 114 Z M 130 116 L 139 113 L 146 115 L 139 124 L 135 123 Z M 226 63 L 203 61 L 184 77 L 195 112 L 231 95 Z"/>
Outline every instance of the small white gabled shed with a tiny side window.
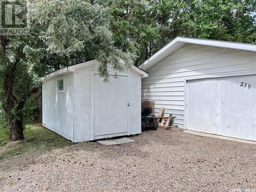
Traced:
<path fill-rule="evenodd" d="M 109 69 L 109 82 L 91 60 L 44 77 L 42 123 L 74 141 L 141 133 L 141 78 L 147 73 L 132 66 L 118 73 Z"/>

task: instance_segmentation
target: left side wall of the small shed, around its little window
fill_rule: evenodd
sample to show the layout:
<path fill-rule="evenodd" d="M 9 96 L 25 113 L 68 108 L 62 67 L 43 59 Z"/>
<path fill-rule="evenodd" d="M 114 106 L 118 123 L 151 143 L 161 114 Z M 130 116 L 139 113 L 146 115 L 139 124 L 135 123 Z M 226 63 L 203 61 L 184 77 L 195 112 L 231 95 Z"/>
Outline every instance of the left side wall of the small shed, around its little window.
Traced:
<path fill-rule="evenodd" d="M 57 93 L 57 79 L 64 79 L 63 93 Z M 49 130 L 73 141 L 73 73 L 42 84 L 42 123 Z"/>

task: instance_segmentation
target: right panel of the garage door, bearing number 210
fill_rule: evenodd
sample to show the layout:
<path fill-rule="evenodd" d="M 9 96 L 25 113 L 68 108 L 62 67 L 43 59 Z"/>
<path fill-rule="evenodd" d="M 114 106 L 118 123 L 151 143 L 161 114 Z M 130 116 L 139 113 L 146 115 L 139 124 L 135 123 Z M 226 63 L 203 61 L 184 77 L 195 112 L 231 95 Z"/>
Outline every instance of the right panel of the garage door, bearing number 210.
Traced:
<path fill-rule="evenodd" d="M 256 140 L 256 76 L 228 77 L 223 82 L 224 136 Z"/>

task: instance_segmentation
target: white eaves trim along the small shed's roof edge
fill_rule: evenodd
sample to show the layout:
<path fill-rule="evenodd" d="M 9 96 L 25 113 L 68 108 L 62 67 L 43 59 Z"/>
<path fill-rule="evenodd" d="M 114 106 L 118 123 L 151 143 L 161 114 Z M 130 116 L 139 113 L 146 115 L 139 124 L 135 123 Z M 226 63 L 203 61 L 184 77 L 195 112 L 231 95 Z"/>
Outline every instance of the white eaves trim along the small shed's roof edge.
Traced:
<path fill-rule="evenodd" d="M 53 78 L 53 77 L 56 77 L 56 76 L 59 76 L 59 75 L 64 75 L 64 74 L 67 74 L 67 73 L 72 73 L 72 72 L 76 71 L 79 68 L 90 66 L 90 65 L 94 65 L 97 62 L 98 61 L 94 59 L 94 60 L 78 63 L 76 65 L 67 66 L 67 67 L 65 67 L 63 69 L 54 71 L 54 72 L 52 72 L 52 73 L 50 73 L 50 74 L 48 74 L 48 75 L 46 75 L 44 77 L 41 77 L 41 80 L 47 80 L 47 79 L 50 79 L 50 78 Z M 124 62 L 120 61 L 120 63 L 122 65 L 124 65 Z M 131 68 L 134 71 L 136 71 L 137 73 L 141 74 L 142 78 L 148 77 L 148 74 L 146 72 L 144 72 L 143 70 L 139 69 L 138 67 L 131 66 Z"/>

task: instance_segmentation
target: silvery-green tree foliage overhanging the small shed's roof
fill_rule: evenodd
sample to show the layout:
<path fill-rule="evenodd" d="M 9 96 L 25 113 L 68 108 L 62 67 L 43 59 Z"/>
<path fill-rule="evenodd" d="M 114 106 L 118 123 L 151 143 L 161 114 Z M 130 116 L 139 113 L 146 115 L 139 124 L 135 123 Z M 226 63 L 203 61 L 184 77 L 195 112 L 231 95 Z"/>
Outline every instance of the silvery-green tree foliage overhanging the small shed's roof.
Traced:
<path fill-rule="evenodd" d="M 32 23 L 39 25 L 39 38 L 50 55 L 57 54 L 70 60 L 79 57 L 82 60 L 97 59 L 101 63 L 100 76 L 105 80 L 108 65 L 116 71 L 122 70 L 119 59 L 127 66 L 132 65 L 134 55 L 115 45 L 108 7 L 86 0 L 35 0 L 30 3 L 30 10 Z"/>

